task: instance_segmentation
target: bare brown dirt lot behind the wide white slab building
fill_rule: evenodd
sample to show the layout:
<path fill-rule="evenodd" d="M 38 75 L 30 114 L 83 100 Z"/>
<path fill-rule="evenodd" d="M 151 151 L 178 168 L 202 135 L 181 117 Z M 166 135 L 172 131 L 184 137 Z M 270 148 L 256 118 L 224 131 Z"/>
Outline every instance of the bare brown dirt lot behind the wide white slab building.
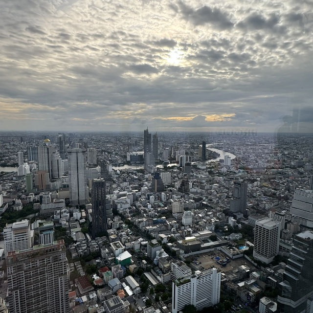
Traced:
<path fill-rule="evenodd" d="M 216 268 L 220 268 L 222 269 L 223 272 L 229 272 L 231 270 L 233 270 L 234 268 L 237 268 L 241 265 L 247 265 L 248 267 L 253 267 L 252 264 L 250 264 L 250 262 L 242 257 L 236 260 L 230 260 L 229 263 L 226 264 L 226 266 L 222 266 L 220 264 L 218 264 L 215 260 L 216 257 L 220 257 L 221 259 L 225 259 L 227 257 L 227 255 L 222 252 L 222 251 L 211 251 L 211 252 L 205 252 L 202 254 L 198 254 L 198 255 L 193 255 L 191 257 L 189 257 L 188 259 L 191 258 L 191 262 L 194 268 L 198 268 L 198 269 L 206 269 L 206 268 L 211 268 L 212 266 L 215 266 Z M 197 258 L 197 260 L 194 260 L 195 262 L 201 262 L 198 265 L 194 264 L 194 261 L 192 260 L 192 258 Z"/>

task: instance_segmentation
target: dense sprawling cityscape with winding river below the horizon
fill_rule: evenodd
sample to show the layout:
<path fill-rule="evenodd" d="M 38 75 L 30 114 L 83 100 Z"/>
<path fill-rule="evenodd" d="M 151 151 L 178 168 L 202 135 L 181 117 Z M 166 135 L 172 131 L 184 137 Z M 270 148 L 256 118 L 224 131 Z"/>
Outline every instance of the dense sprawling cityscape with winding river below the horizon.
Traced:
<path fill-rule="evenodd" d="M 311 312 L 311 134 L 0 146 L 2 312 Z"/>

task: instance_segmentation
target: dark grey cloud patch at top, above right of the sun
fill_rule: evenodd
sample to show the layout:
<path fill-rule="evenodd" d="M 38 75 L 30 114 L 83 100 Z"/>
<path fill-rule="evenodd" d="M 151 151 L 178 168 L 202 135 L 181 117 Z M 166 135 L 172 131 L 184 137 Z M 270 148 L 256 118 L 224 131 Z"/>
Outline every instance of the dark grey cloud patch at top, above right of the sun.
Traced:
<path fill-rule="evenodd" d="M 179 2 L 179 7 L 184 19 L 192 22 L 194 25 L 210 23 L 218 29 L 233 27 L 233 23 L 230 22 L 227 14 L 218 8 L 211 8 L 205 5 L 200 9 L 194 10 L 182 2 Z"/>

